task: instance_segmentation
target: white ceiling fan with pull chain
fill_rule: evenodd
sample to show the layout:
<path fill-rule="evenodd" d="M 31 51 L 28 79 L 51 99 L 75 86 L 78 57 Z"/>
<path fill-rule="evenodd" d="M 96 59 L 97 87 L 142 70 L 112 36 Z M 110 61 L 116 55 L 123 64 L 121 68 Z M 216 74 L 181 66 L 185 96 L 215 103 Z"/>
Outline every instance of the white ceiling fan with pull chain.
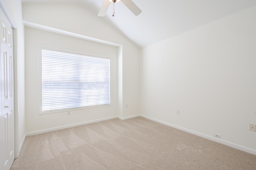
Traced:
<path fill-rule="evenodd" d="M 110 6 L 111 3 L 113 3 L 113 15 L 115 14 L 115 8 L 114 5 L 116 2 L 119 2 L 120 0 L 104 0 L 101 8 L 100 8 L 100 12 L 98 13 L 98 16 L 103 17 L 105 16 L 108 7 Z M 142 11 L 140 10 L 140 8 L 138 8 L 138 6 L 136 6 L 134 4 L 134 2 L 132 2 L 132 0 L 121 0 L 121 2 L 123 2 L 123 4 L 135 15 L 138 16 Z"/>

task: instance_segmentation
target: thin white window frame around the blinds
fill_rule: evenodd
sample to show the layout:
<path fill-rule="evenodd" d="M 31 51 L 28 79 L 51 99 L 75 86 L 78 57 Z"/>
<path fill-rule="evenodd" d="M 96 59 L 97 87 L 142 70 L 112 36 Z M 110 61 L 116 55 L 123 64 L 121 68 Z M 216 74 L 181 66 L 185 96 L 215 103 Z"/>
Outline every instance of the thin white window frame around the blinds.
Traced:
<path fill-rule="evenodd" d="M 76 55 L 85 55 L 88 57 L 97 57 L 97 58 L 103 58 L 103 59 L 109 59 L 109 69 L 110 69 L 110 104 L 102 104 L 102 105 L 95 105 L 95 106 L 82 106 L 82 107 L 72 107 L 72 108 L 67 108 L 67 109 L 56 109 L 56 110 L 51 110 L 51 111 L 42 111 L 42 50 L 50 50 L 50 51 L 56 51 L 56 52 L 62 52 L 62 53 L 71 53 L 71 54 L 76 54 Z M 40 98 L 40 112 L 39 115 L 41 114 L 48 114 L 48 113 L 58 113 L 58 112 L 66 112 L 66 111 L 73 111 L 73 110 L 81 110 L 81 109 L 92 109 L 96 107 L 107 107 L 107 106 L 112 106 L 112 71 L 111 71 L 111 58 L 110 57 L 102 57 L 102 56 L 97 56 L 97 55 L 89 55 L 85 53 L 78 53 L 78 52 L 73 52 L 73 51 L 64 51 L 60 49 L 53 49 L 53 48 L 46 48 L 46 47 L 39 47 L 39 63 L 38 63 L 38 68 L 39 68 L 39 84 L 40 84 L 40 90 L 39 90 L 39 98 Z"/>

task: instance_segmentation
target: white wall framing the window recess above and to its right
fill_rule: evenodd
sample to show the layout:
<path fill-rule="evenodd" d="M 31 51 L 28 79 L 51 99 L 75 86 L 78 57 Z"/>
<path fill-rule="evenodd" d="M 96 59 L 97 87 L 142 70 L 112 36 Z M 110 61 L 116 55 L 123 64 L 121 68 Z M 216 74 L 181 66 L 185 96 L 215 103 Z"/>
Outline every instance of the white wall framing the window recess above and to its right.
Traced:
<path fill-rule="evenodd" d="M 23 4 L 23 20 L 122 45 L 122 85 L 118 115 L 139 114 L 139 49 L 124 35 L 87 9 L 75 4 Z M 119 70 L 120 71 L 120 70 Z M 123 107 L 128 104 L 128 108 Z"/>

